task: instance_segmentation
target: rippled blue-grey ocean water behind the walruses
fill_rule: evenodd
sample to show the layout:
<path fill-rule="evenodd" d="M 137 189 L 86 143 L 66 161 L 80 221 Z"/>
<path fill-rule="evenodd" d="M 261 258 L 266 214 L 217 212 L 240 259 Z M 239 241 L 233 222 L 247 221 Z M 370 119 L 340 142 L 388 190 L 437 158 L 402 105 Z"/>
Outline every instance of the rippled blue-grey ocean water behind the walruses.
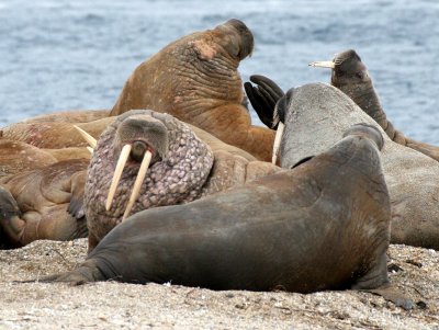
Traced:
<path fill-rule="evenodd" d="M 439 145 L 439 1 L 0 0 L 0 126 L 42 113 L 110 109 L 130 73 L 168 43 L 230 18 L 254 32 L 243 79 L 283 89 L 328 82 L 307 66 L 354 48 L 387 117 Z M 254 122 L 260 123 L 256 115 Z"/>

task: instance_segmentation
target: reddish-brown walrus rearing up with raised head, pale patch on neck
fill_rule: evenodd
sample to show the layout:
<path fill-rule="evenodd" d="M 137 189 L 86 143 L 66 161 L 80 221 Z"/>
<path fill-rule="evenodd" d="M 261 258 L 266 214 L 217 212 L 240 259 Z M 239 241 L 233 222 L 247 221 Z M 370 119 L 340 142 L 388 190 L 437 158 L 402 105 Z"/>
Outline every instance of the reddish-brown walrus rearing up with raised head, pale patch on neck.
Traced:
<path fill-rule="evenodd" d="M 269 160 L 273 132 L 252 126 L 243 103 L 239 61 L 254 48 L 247 26 L 230 20 L 166 46 L 138 66 L 111 115 L 153 109 L 198 126 L 261 160 Z"/>

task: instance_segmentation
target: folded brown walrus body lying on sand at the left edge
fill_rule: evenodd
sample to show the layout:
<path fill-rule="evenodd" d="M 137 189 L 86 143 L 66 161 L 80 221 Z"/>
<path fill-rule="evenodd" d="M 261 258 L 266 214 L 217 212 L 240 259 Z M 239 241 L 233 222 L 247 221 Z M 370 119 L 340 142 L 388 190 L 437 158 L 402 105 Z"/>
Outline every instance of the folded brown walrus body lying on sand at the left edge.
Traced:
<path fill-rule="evenodd" d="M 0 248 L 87 237 L 82 212 L 87 166 L 87 160 L 70 160 L 1 179 Z"/>

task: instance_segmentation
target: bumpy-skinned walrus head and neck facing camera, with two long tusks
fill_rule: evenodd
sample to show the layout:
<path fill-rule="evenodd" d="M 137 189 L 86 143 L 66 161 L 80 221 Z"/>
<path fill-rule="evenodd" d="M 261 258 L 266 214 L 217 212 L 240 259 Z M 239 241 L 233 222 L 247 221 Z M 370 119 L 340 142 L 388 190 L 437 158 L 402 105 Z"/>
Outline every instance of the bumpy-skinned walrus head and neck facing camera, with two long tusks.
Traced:
<path fill-rule="evenodd" d="M 101 135 L 86 182 L 90 235 L 102 239 L 130 214 L 193 201 L 213 166 L 213 153 L 168 114 L 120 115 Z"/>

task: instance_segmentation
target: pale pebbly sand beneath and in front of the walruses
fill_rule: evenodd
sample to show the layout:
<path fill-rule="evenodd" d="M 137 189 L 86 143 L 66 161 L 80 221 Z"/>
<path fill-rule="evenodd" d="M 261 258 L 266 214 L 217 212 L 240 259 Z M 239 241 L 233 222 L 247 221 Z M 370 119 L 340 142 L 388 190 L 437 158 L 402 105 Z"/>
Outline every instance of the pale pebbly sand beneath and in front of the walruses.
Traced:
<path fill-rule="evenodd" d="M 213 292 L 114 282 L 14 283 L 75 268 L 86 239 L 0 251 L 0 329 L 439 329 L 439 252 L 391 246 L 394 285 L 409 311 L 361 292 Z"/>

